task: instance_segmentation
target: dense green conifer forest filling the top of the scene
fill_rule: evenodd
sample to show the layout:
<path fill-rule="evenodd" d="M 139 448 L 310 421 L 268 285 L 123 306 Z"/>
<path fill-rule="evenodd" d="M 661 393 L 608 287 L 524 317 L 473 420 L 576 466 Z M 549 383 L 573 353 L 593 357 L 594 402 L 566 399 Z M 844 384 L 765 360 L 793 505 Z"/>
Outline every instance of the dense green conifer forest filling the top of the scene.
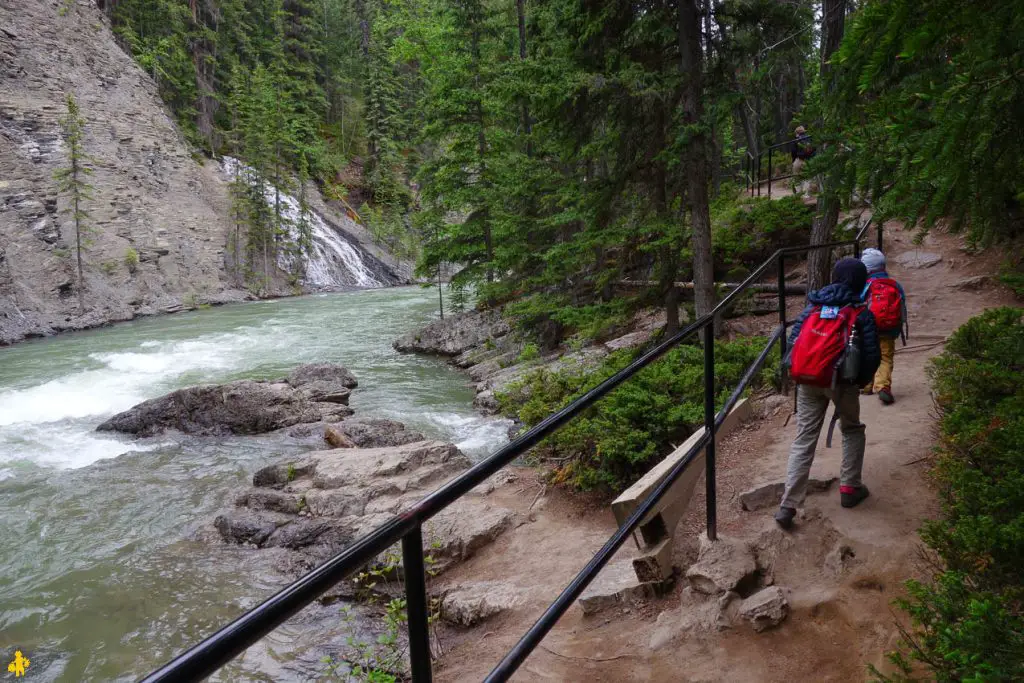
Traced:
<path fill-rule="evenodd" d="M 319 183 L 490 304 L 714 303 L 713 207 L 808 128 L 812 238 L 877 218 L 1020 232 L 1017 3 L 954 0 L 106 0 L 198 148 L 250 184 Z M 776 152 L 782 164 L 788 151 Z M 780 172 L 777 171 L 776 172 Z M 240 187 L 239 197 L 247 197 Z M 254 193 L 249 195 L 255 196 Z M 253 199 L 255 202 L 255 199 Z M 294 226 L 242 203 L 249 269 Z M 272 213 L 272 212 L 271 212 Z M 719 212 L 720 214 L 728 213 Z M 262 237 L 259 237 L 262 234 Z M 241 239 L 241 238 L 240 238 Z M 301 249 L 301 239 L 295 249 Z M 241 254 L 241 249 L 240 249 Z M 264 268 L 265 269 L 265 268 Z M 812 263 L 812 284 L 823 276 Z M 603 312 L 602 312 L 603 311 Z M 616 313 L 617 314 L 617 313 Z M 590 321 L 593 323 L 593 321 Z M 598 326 L 600 327 L 600 326 Z"/>

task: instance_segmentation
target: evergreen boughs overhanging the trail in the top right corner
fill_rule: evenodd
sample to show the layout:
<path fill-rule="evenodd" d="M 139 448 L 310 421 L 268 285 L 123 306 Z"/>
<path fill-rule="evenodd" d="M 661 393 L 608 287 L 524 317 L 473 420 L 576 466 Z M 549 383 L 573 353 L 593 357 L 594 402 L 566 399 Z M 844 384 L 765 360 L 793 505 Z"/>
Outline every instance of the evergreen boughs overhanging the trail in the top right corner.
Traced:
<path fill-rule="evenodd" d="M 1021 233 L 1022 17 L 996 0 L 876 0 L 852 16 L 824 108 L 849 150 L 844 190 L 877 219 L 949 217 L 975 243 Z"/>

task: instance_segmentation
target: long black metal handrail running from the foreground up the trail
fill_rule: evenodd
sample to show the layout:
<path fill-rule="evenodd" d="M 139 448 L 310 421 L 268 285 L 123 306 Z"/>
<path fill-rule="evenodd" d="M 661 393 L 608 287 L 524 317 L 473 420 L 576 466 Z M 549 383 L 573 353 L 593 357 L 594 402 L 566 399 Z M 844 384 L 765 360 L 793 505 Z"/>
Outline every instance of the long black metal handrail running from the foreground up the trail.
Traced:
<path fill-rule="evenodd" d="M 643 368 L 665 355 L 669 350 L 688 339 L 698 331 L 703 331 L 705 348 L 705 433 L 697 443 L 673 467 L 669 475 L 634 511 L 626 522 L 612 535 L 608 542 L 591 559 L 568 587 L 548 607 L 523 638 L 502 659 L 486 680 L 506 681 L 520 664 L 537 647 L 558 618 L 586 589 L 601 568 L 608 562 L 625 540 L 636 529 L 644 516 L 654 508 L 662 496 L 692 463 L 701 449 L 706 450 L 707 522 L 708 537 L 717 538 L 717 496 L 715 439 L 725 416 L 732 410 L 739 396 L 764 365 L 776 342 L 780 344 L 781 355 L 785 355 L 785 257 L 803 254 L 817 249 L 850 247 L 859 256 L 860 242 L 866 234 L 870 221 L 864 224 L 853 240 L 829 242 L 821 245 L 788 247 L 775 251 L 758 266 L 736 289 L 727 294 L 715 308 L 662 341 L 643 353 L 627 368 L 618 371 L 596 387 L 571 401 L 568 405 L 549 416 L 537 426 L 499 449 L 494 454 L 473 465 L 468 470 L 445 483 L 434 493 L 401 515 L 395 516 L 358 539 L 340 553 L 300 578 L 279 593 L 266 599 L 253 609 L 242 614 L 227 626 L 204 639 L 200 643 L 153 672 L 143 679 L 145 683 L 167 681 L 199 681 L 213 674 L 222 666 L 241 654 L 247 647 L 281 626 L 303 607 L 312 603 L 338 582 L 359 571 L 369 562 L 395 543 L 401 543 L 402 564 L 406 577 L 406 599 L 409 611 L 410 660 L 413 680 L 428 683 L 431 680 L 430 642 L 428 630 L 426 573 L 423 554 L 423 523 L 451 505 L 453 502 L 479 485 L 487 477 L 539 443 L 549 434 L 572 420 L 581 412 L 593 405 L 602 396 L 636 375 Z M 882 226 L 879 225 L 879 240 Z M 729 399 L 717 414 L 715 401 L 715 333 L 714 321 L 723 313 L 736 298 L 754 282 L 764 275 L 772 266 L 778 268 L 779 326 L 758 358 L 746 369 L 739 384 Z"/>

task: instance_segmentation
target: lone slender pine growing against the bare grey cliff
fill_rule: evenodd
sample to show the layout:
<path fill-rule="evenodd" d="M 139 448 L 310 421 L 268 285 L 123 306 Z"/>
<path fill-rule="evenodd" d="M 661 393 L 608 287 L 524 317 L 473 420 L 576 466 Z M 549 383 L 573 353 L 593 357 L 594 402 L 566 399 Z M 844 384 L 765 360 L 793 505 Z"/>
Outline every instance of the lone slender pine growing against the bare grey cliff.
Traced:
<path fill-rule="evenodd" d="M 68 113 L 60 120 L 63 129 L 68 166 L 57 170 L 54 178 L 57 188 L 71 206 L 65 213 L 71 215 L 75 224 L 75 261 L 78 269 L 78 309 L 85 312 L 85 274 L 82 265 L 82 251 L 88 247 L 89 212 L 84 203 L 92 199 L 92 185 L 87 178 L 92 175 L 90 157 L 85 152 L 85 118 L 79 109 L 75 95 L 68 93 Z"/>

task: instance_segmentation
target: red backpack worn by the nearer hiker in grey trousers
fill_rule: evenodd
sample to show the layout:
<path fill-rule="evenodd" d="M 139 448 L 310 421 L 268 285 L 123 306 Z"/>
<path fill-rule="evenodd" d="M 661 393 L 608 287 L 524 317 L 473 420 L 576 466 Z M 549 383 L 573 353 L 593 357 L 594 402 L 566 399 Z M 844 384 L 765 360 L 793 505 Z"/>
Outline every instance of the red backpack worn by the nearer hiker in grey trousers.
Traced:
<path fill-rule="evenodd" d="M 790 354 L 790 376 L 797 384 L 831 388 L 847 342 L 857 322 L 858 306 L 814 306 L 800 327 Z"/>

